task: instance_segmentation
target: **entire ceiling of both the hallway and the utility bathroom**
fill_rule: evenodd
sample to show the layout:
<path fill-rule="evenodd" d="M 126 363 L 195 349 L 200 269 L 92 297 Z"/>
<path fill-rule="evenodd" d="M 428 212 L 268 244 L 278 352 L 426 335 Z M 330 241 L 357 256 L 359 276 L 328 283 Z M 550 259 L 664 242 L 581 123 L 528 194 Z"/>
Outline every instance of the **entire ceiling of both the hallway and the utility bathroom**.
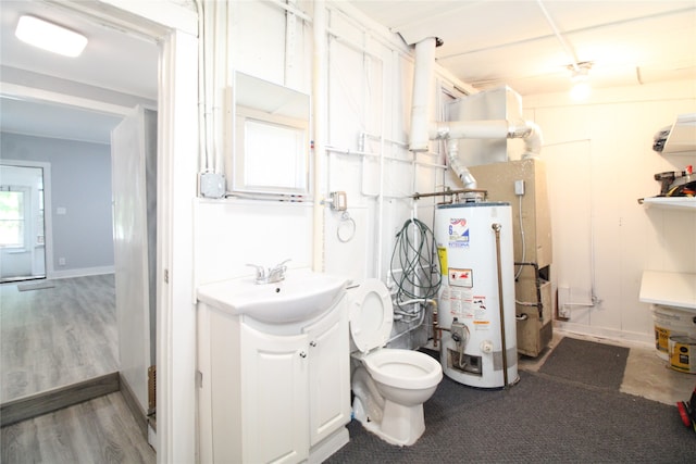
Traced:
<path fill-rule="evenodd" d="M 477 89 L 509 85 L 522 96 L 566 91 L 573 62 L 592 62 L 593 88 L 696 81 L 696 0 L 346 1 L 409 45 L 440 38 L 437 62 Z M 87 49 L 77 59 L 32 49 L 14 37 L 20 14 L 82 32 L 89 38 Z M 40 1 L 2 0 L 0 21 L 3 83 L 14 78 L 13 84 L 40 86 L 41 77 L 51 75 L 69 93 L 130 102 L 123 104 L 157 99 L 153 42 Z M 3 84 L 2 93 L 7 88 Z M 65 105 L 46 108 L 37 101 L 2 98 L 0 105 L 3 130 L 60 138 L 108 142 L 119 120 L 75 108 L 66 117 Z"/>

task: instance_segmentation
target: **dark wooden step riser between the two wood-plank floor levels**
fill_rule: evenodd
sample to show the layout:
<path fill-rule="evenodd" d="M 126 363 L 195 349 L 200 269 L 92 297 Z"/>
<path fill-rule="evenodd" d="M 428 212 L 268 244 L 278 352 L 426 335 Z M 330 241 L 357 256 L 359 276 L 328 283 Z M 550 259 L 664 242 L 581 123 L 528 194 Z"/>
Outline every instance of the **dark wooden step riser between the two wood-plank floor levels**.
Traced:
<path fill-rule="evenodd" d="M 0 426 L 26 421 L 63 407 L 89 401 L 121 388 L 119 373 L 59 387 L 0 404 Z"/>

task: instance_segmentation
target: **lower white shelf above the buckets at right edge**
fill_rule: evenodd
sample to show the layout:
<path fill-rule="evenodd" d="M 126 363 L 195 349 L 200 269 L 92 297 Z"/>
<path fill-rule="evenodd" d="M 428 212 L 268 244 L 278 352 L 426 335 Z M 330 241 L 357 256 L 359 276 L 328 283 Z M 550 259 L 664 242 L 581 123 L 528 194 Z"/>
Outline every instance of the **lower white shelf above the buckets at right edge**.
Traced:
<path fill-rule="evenodd" d="M 644 271 L 641 301 L 696 310 L 696 274 Z"/>

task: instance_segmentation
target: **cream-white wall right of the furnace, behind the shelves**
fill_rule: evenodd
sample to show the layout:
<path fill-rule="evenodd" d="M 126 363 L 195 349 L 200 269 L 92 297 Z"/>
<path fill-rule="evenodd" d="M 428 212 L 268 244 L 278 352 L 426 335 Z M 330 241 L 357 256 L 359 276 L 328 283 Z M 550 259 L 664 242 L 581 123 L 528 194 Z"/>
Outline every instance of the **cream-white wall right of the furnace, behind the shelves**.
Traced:
<path fill-rule="evenodd" d="M 544 131 L 554 266 L 559 302 L 573 306 L 569 330 L 652 341 L 650 306 L 638 301 L 643 269 L 696 272 L 696 214 L 648 209 L 654 174 L 696 164 L 652 151 L 652 137 L 696 111 L 696 88 L 673 81 L 595 90 L 583 104 L 564 93 L 527 96 L 525 117 Z"/>

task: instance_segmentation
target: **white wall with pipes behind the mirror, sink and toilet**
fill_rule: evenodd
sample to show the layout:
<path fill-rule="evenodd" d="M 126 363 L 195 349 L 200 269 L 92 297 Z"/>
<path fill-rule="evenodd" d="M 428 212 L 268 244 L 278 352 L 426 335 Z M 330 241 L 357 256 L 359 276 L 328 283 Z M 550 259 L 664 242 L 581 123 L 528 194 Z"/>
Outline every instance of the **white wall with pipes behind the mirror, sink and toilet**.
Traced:
<path fill-rule="evenodd" d="M 290 38 L 285 30 L 285 11 L 277 5 L 234 2 L 231 7 L 234 39 L 228 49 L 229 68 L 310 92 L 314 25 L 298 20 Z M 198 284 L 250 275 L 247 263 L 270 266 L 289 258 L 290 267 L 311 266 L 312 244 L 316 243 L 323 271 L 356 281 L 368 277 L 387 281 L 396 233 L 414 212 L 431 221 L 433 203 L 421 200 L 417 204 L 409 198 L 414 191 L 433 191 L 443 184 L 439 154 L 420 154 L 421 164 L 414 164 L 406 147 L 411 50 L 383 26 L 364 17 L 356 20 L 352 14 L 358 13 L 347 14 L 346 9 L 340 2 L 327 3 L 324 60 L 328 88 L 327 95 L 312 99 L 327 104 L 324 143 L 328 149 L 326 153 L 312 152 L 312 156 L 323 156 L 316 164 L 323 171 L 314 195 L 325 198 L 331 191 L 345 191 L 355 235 L 350 221 L 325 206 L 323 233 L 314 236 L 311 202 L 199 199 L 195 205 Z M 308 12 L 311 14 L 311 9 Z M 256 21 L 261 16 L 262 23 Z M 290 66 L 288 42 L 294 47 Z M 453 79 L 442 70 L 438 79 L 438 85 L 452 88 Z M 433 93 L 438 100 L 438 90 Z M 365 143 L 361 142 L 363 135 L 369 135 Z M 339 229 L 348 240 L 338 238 Z"/>

